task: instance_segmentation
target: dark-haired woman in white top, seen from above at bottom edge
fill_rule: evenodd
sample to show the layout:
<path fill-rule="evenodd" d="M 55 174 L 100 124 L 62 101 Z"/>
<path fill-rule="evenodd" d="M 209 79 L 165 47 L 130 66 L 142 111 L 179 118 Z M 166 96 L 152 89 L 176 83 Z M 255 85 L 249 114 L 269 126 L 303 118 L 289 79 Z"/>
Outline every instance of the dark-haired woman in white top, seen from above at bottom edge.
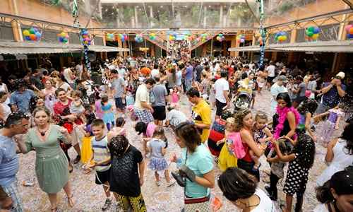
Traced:
<path fill-rule="evenodd" d="M 225 198 L 243 212 L 274 212 L 271 199 L 258 188 L 252 175 L 237 167 L 229 167 L 218 177 L 218 186 Z"/>

